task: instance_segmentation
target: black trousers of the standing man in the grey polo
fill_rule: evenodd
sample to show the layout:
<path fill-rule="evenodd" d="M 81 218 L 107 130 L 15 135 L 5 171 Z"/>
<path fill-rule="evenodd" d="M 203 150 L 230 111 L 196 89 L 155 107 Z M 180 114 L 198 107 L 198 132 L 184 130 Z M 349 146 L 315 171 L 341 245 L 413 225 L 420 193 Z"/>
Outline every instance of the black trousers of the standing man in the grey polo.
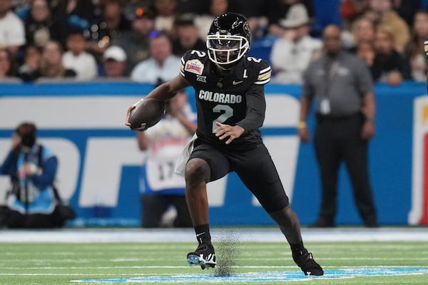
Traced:
<path fill-rule="evenodd" d="M 341 118 L 317 116 L 315 153 L 322 185 L 320 219 L 327 222 L 334 222 L 337 212 L 337 177 L 342 161 L 362 219 L 365 224 L 377 222 L 368 172 L 368 142 L 361 138 L 363 123 L 361 114 Z"/>

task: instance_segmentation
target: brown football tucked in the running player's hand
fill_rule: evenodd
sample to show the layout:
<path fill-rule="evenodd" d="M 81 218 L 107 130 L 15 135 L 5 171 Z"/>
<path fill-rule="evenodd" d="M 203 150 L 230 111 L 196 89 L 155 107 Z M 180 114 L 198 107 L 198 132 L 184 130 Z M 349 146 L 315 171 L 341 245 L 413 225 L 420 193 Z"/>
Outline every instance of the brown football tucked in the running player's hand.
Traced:
<path fill-rule="evenodd" d="M 146 98 L 138 101 L 135 106 L 129 115 L 131 130 L 147 130 L 165 115 L 165 102 L 161 100 Z"/>

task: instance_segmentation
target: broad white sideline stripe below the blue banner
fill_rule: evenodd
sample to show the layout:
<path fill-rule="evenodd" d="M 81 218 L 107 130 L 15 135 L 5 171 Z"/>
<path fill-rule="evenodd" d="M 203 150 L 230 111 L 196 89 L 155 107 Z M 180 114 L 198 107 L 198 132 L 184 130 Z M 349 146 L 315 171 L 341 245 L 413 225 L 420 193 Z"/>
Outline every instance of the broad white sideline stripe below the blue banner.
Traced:
<path fill-rule="evenodd" d="M 215 240 L 283 242 L 276 228 L 213 228 Z M 302 229 L 305 242 L 428 242 L 428 227 Z M 193 229 L 52 229 L 0 230 L 0 242 L 194 242 Z"/>

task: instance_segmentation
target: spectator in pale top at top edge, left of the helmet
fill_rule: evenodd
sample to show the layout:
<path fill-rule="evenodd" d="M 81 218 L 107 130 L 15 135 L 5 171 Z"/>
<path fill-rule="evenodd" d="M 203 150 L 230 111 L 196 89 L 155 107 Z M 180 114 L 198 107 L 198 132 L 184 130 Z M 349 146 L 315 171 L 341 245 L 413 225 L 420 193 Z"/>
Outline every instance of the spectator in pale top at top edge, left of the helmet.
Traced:
<path fill-rule="evenodd" d="M 177 0 L 154 0 L 154 7 L 156 12 L 156 30 L 165 31 L 169 36 L 174 36 L 173 26 L 178 16 Z"/>

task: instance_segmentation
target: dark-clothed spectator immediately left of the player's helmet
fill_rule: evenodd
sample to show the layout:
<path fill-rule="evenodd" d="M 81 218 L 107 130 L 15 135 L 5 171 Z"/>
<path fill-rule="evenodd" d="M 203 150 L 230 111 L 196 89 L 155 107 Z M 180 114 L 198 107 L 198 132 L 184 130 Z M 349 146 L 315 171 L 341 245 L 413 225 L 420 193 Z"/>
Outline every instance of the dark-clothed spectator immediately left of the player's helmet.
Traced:
<path fill-rule="evenodd" d="M 205 41 L 199 37 L 198 27 L 195 26 L 192 15 L 180 16 L 174 26 L 177 35 L 173 44 L 175 56 L 183 56 L 188 50 L 205 51 L 207 49 Z"/>

